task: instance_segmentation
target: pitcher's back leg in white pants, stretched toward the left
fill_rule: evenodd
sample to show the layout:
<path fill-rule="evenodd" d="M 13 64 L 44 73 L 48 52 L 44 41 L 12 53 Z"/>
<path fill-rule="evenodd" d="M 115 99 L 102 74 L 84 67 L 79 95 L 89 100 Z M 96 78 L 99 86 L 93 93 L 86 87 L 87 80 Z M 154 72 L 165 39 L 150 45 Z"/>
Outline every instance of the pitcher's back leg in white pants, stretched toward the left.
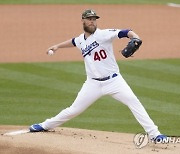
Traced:
<path fill-rule="evenodd" d="M 41 126 L 46 130 L 53 129 L 78 116 L 102 96 L 99 88 L 100 85 L 98 85 L 97 82 L 95 83 L 92 80 L 87 80 L 83 84 L 83 87 L 78 93 L 74 103 L 70 107 L 62 110 L 55 117 L 45 120 L 43 123 L 41 123 Z"/>

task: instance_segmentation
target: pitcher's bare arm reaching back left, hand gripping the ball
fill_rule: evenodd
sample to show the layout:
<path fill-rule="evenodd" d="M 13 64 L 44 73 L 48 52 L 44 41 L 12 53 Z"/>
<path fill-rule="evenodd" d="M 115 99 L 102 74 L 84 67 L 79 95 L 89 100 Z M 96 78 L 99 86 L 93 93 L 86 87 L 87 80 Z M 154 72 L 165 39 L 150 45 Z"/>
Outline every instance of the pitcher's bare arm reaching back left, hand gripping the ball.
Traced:
<path fill-rule="evenodd" d="M 56 45 L 53 45 L 53 46 L 51 46 L 50 48 L 48 48 L 48 51 L 49 51 L 49 50 L 53 50 L 53 51 L 55 52 L 55 51 L 57 51 L 59 48 L 70 48 L 70 47 L 75 47 L 74 44 L 73 44 L 72 39 L 67 40 L 67 41 L 64 41 L 64 42 L 61 42 L 61 43 L 56 44 Z M 47 54 L 48 54 L 48 51 L 47 51 Z"/>

